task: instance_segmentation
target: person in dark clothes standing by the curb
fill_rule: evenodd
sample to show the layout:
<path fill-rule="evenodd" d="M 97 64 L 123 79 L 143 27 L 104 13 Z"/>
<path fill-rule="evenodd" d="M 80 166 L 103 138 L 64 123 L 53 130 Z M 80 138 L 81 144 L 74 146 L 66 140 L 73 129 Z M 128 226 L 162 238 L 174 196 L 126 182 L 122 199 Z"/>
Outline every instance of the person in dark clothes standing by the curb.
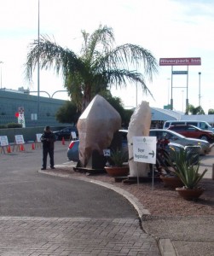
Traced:
<path fill-rule="evenodd" d="M 55 150 L 56 137 L 49 126 L 45 126 L 43 134 L 41 136 L 41 142 L 43 143 L 43 167 L 41 170 L 47 168 L 47 158 L 49 154 L 49 164 L 51 169 L 55 169 L 54 150 Z"/>

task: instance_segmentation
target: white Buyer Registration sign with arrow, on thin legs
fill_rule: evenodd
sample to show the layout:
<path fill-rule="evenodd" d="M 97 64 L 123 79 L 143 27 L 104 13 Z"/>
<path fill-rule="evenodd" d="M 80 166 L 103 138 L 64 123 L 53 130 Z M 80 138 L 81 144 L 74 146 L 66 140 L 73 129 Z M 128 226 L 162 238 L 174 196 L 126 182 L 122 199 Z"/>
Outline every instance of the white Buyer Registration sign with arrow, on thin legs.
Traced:
<path fill-rule="evenodd" d="M 156 148 L 157 137 L 133 137 L 134 161 L 155 164 Z"/>

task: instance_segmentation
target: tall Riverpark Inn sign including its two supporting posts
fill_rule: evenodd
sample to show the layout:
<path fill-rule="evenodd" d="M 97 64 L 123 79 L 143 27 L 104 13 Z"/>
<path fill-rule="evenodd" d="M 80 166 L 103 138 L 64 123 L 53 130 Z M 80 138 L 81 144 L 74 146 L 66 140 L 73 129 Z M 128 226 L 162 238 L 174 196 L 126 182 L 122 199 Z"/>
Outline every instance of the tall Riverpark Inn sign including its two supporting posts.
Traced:
<path fill-rule="evenodd" d="M 186 109 L 188 109 L 188 66 L 197 66 L 201 65 L 200 57 L 197 58 L 160 58 L 159 66 L 171 66 L 171 110 L 173 110 L 173 97 L 172 89 L 173 88 L 186 88 L 187 89 L 187 99 L 186 99 Z M 174 66 L 187 66 L 187 71 L 173 71 Z M 184 87 L 173 87 L 172 76 L 176 74 L 185 74 L 187 75 L 187 86 Z"/>

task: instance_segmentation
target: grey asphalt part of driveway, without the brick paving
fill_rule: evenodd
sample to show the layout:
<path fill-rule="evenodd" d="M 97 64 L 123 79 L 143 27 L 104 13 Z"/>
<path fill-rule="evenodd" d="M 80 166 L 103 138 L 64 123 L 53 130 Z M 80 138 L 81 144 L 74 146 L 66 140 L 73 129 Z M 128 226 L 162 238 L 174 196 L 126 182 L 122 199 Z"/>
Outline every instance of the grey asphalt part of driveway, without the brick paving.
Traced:
<path fill-rule="evenodd" d="M 38 173 L 42 148 L 1 154 L 0 215 L 137 218 L 134 207 L 110 189 Z M 67 146 L 56 142 L 55 164 L 67 161 Z"/>

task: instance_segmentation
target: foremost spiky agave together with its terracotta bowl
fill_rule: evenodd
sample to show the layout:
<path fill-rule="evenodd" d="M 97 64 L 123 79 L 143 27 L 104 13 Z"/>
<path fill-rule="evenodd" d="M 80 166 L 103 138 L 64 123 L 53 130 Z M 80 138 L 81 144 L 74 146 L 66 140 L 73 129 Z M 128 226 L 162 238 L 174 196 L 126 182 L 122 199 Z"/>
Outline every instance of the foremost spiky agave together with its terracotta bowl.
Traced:
<path fill-rule="evenodd" d="M 171 161 L 168 160 L 168 163 Z M 201 173 L 199 169 L 200 161 L 195 165 L 191 164 L 186 150 L 183 149 L 180 153 L 175 152 L 175 163 L 171 163 L 171 172 L 174 172 L 182 180 L 184 186 L 176 188 L 176 191 L 186 200 L 197 200 L 205 191 L 199 186 L 199 183 L 207 169 Z"/>

